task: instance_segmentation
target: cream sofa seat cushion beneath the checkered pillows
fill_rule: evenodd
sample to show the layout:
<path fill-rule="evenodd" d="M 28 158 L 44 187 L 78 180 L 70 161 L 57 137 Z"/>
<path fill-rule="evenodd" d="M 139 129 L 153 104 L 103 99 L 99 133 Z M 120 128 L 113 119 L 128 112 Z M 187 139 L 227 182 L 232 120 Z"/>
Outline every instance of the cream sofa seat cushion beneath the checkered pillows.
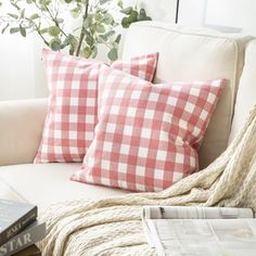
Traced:
<path fill-rule="evenodd" d="M 0 197 L 37 204 L 42 212 L 50 204 L 79 199 L 98 200 L 128 193 L 69 180 L 80 164 L 25 164 L 0 167 Z"/>

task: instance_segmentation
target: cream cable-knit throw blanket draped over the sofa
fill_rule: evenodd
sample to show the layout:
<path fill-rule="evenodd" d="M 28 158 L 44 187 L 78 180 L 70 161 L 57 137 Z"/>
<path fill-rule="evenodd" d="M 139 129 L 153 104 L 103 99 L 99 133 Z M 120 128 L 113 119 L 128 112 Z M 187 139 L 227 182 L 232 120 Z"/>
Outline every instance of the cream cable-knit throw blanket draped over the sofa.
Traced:
<path fill-rule="evenodd" d="M 46 256 L 156 255 L 145 241 L 143 205 L 239 206 L 256 210 L 256 106 L 227 151 L 206 169 L 161 193 L 52 206 L 42 216 Z"/>

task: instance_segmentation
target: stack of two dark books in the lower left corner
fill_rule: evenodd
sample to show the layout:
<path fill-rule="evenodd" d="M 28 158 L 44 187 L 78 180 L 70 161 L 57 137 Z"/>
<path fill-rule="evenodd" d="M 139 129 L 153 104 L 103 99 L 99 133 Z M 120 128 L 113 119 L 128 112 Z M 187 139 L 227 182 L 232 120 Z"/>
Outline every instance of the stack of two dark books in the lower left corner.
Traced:
<path fill-rule="evenodd" d="M 46 223 L 37 206 L 0 199 L 0 256 L 13 255 L 42 240 Z"/>

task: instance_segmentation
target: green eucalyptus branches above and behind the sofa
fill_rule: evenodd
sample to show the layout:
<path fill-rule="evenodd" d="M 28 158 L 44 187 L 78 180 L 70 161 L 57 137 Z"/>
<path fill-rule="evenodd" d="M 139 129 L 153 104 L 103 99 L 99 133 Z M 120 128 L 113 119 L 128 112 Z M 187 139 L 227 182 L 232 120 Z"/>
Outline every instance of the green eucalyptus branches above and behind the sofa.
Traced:
<path fill-rule="evenodd" d="M 1 0 L 0 0 L 1 1 Z M 8 1 L 8 0 L 7 0 Z M 37 33 L 46 46 L 53 51 L 69 48 L 69 54 L 95 57 L 98 46 L 105 46 L 107 57 L 115 61 L 118 57 L 120 35 L 115 27 L 128 28 L 130 24 L 151 20 L 144 9 L 124 8 L 123 0 L 9 0 L 13 11 L 0 15 L 2 33 L 20 33 L 23 37 Z M 4 3 L 3 3 L 4 5 Z M 35 13 L 29 13 L 31 5 Z M 116 8 L 116 9 L 115 9 Z M 112 15 L 112 10 L 123 13 L 121 22 Z M 69 12 L 73 18 L 81 18 L 80 33 L 77 28 L 66 30 L 63 16 Z M 79 20 L 80 21 L 80 20 Z M 10 28 L 10 29 L 9 29 Z"/>

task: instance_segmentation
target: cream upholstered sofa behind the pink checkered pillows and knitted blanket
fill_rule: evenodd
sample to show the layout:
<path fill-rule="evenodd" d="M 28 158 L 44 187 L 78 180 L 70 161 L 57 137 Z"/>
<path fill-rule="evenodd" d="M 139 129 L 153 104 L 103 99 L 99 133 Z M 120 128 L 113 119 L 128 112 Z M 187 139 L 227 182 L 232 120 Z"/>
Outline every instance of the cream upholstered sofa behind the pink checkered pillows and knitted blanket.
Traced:
<path fill-rule="evenodd" d="M 132 25 L 127 34 L 124 59 L 159 52 L 156 82 L 228 80 L 200 150 L 201 168 L 225 151 L 249 107 L 256 103 L 256 67 L 253 64 L 256 41 L 252 41 L 246 50 L 244 66 L 245 48 L 251 40 L 242 35 L 151 22 Z M 69 181 L 80 164 L 33 164 L 46 113 L 46 99 L 0 103 L 0 197 L 27 201 L 43 209 L 59 201 L 128 193 Z"/>

